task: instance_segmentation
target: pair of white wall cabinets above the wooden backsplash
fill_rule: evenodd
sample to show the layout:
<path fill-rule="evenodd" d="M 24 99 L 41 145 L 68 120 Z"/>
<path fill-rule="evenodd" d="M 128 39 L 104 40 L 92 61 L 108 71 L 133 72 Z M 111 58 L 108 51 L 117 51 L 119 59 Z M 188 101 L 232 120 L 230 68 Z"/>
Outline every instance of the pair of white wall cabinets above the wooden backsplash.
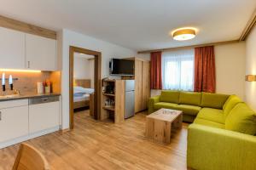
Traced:
<path fill-rule="evenodd" d="M 0 68 L 56 71 L 56 40 L 0 27 Z"/>

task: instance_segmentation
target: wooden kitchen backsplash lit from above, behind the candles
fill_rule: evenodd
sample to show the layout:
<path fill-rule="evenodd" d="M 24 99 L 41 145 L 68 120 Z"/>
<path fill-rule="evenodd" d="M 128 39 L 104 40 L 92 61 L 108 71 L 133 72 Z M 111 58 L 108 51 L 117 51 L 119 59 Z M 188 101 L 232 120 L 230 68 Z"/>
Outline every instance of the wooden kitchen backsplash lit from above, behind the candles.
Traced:
<path fill-rule="evenodd" d="M 5 87 L 6 91 L 3 92 L 2 86 L 0 87 L 0 95 L 3 94 L 13 94 L 14 92 L 10 90 L 9 87 L 9 75 L 12 75 L 14 81 L 14 90 L 20 91 L 20 94 L 32 94 L 37 93 L 37 82 L 43 82 L 46 79 L 50 79 L 51 72 L 17 72 L 17 71 L 0 71 L 0 78 L 2 78 L 3 72 L 5 73 Z M 18 80 L 15 80 L 15 79 Z M 2 81 L 1 81 L 2 85 Z"/>

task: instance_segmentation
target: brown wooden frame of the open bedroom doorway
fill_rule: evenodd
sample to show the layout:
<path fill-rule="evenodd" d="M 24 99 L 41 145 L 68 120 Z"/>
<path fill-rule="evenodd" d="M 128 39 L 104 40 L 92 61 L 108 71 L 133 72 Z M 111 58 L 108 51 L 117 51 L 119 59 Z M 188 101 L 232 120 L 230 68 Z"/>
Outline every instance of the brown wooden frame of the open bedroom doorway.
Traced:
<path fill-rule="evenodd" d="M 102 112 L 102 53 L 86 48 L 69 47 L 69 128 L 73 129 L 73 55 L 74 53 L 95 56 L 94 62 L 94 118 L 100 120 Z"/>

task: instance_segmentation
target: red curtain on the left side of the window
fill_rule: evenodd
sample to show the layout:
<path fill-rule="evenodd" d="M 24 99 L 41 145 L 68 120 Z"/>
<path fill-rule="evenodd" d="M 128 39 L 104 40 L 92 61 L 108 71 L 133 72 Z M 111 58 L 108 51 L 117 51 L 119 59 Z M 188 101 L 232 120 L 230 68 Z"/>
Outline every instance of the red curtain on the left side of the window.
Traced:
<path fill-rule="evenodd" d="M 151 89 L 162 89 L 161 52 L 151 53 L 150 87 Z"/>

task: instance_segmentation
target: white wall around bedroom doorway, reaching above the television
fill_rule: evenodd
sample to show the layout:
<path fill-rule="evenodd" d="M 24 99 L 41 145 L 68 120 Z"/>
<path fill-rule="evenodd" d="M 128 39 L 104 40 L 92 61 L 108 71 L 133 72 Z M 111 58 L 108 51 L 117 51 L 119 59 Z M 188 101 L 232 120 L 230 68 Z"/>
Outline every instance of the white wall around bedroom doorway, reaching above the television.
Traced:
<path fill-rule="evenodd" d="M 111 58 L 125 58 L 135 56 L 136 52 L 115 45 L 110 42 L 104 42 L 94 37 L 89 37 L 75 31 L 63 29 L 58 32 L 61 34 L 58 41 L 61 41 L 61 94 L 62 94 L 62 129 L 69 127 L 69 47 L 75 46 L 102 52 L 102 78 L 107 77 L 108 62 Z"/>

